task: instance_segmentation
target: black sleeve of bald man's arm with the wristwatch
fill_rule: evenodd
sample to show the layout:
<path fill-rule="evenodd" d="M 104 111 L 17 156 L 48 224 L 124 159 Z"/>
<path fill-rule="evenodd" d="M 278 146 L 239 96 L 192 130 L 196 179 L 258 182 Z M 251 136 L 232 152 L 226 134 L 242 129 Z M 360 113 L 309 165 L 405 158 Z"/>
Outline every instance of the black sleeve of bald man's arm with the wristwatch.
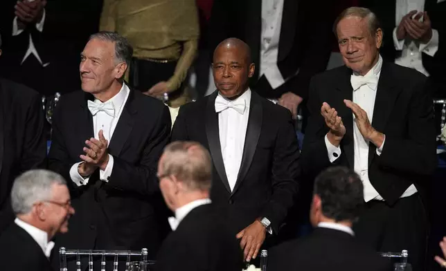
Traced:
<path fill-rule="evenodd" d="M 287 216 L 288 209 L 294 204 L 294 196 L 298 191 L 298 178 L 301 176 L 300 151 L 291 113 L 287 111 L 286 115 L 279 117 L 278 121 L 281 124 L 272 160 L 272 195 L 261 214 L 261 217 L 271 221 L 272 230 L 276 234 Z"/>

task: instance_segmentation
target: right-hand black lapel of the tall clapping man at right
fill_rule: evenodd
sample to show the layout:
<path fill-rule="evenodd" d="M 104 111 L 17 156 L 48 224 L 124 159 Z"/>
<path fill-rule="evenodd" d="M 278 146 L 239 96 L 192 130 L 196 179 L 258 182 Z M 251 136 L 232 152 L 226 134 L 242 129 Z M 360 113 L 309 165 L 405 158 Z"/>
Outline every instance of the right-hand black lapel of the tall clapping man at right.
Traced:
<path fill-rule="evenodd" d="M 386 127 L 387 120 L 392 112 L 395 100 L 398 98 L 398 95 L 400 95 L 401 90 L 400 88 L 395 88 L 395 84 L 393 83 L 394 80 L 389 64 L 383 62 L 380 80 L 376 90 L 373 120 L 371 120 L 372 127 L 380 133 L 384 133 L 384 128 Z M 375 157 L 375 153 L 376 147 L 374 144 L 370 143 L 368 147 L 368 165 L 371 164 Z"/>

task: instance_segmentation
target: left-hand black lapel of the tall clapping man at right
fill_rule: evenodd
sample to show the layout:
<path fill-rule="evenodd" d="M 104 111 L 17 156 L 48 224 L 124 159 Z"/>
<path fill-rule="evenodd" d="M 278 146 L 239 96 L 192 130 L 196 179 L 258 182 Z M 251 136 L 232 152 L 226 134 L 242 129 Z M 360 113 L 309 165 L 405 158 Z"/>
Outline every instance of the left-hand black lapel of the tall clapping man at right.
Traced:
<path fill-rule="evenodd" d="M 338 107 L 333 106 L 338 115 L 342 116 L 342 122 L 346 127 L 346 135 L 342 139 L 342 146 L 344 147 L 344 151 L 347 156 L 348 164 L 351 168 L 354 167 L 354 142 L 353 142 L 353 112 L 344 104 L 344 100 L 353 101 L 353 87 L 350 82 L 350 76 L 352 75 L 352 71 L 344 66 L 341 70 L 342 74 L 339 77 L 337 91 L 339 91 L 341 99 L 336 98 L 336 100 L 340 100 L 341 104 L 337 104 Z M 337 95 L 337 94 L 335 94 Z"/>

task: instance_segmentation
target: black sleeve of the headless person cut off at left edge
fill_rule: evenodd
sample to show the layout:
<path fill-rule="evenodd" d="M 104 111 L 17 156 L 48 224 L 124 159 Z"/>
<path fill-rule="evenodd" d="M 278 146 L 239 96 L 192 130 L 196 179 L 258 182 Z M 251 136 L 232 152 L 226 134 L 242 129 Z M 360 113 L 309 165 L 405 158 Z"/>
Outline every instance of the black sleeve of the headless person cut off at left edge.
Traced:
<path fill-rule="evenodd" d="M 42 102 L 37 93 L 33 96 L 28 112 L 24 133 L 24 152 L 21 156 L 21 171 L 28 169 L 45 168 L 46 139 L 44 133 L 44 113 Z"/>

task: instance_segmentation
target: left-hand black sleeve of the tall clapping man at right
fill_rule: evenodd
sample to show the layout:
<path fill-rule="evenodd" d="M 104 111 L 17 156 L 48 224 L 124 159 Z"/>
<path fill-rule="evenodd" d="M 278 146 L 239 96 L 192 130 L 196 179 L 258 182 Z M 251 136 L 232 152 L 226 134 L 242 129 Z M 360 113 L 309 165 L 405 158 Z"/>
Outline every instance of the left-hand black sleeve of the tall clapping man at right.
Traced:
<path fill-rule="evenodd" d="M 301 159 L 303 172 L 309 174 L 309 176 L 318 174 L 321 170 L 331 165 L 327 144 L 325 144 L 325 135 L 329 129 L 326 127 L 321 115 L 323 101 L 319 97 L 316 81 L 318 81 L 317 77 L 313 77 L 310 83 L 310 97 L 307 102 L 308 125 L 305 129 Z"/>

